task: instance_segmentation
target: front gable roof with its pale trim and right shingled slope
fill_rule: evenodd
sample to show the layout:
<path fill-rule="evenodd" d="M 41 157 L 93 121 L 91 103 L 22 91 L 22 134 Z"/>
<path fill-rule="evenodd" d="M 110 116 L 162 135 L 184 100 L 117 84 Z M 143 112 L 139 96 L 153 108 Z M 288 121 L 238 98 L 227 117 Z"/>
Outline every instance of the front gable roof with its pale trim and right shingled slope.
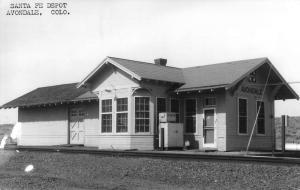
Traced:
<path fill-rule="evenodd" d="M 160 66 L 153 63 L 121 59 L 116 57 L 107 57 L 78 84 L 78 87 L 81 87 L 85 82 L 92 78 L 96 72 L 107 63 L 118 67 L 137 80 L 150 79 L 179 84 L 185 83 L 183 73 L 180 68 Z"/>

